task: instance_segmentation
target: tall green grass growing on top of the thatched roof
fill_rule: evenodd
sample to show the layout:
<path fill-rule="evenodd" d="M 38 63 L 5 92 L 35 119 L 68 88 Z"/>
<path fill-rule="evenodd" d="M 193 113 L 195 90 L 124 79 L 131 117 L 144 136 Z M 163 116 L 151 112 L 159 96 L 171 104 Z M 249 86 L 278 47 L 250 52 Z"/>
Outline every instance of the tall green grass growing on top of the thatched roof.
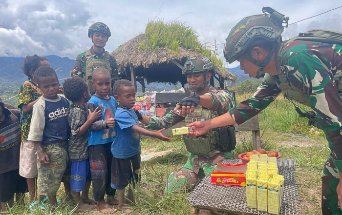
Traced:
<path fill-rule="evenodd" d="M 196 49 L 196 52 L 211 59 L 215 66 L 223 65 L 223 61 L 216 57 L 217 49 L 212 51 L 209 47 L 202 45 L 196 31 L 182 22 L 151 20 L 146 24 L 145 39 L 146 45 L 154 51 L 159 48 L 168 48 L 172 53 L 178 54 L 180 47 Z"/>

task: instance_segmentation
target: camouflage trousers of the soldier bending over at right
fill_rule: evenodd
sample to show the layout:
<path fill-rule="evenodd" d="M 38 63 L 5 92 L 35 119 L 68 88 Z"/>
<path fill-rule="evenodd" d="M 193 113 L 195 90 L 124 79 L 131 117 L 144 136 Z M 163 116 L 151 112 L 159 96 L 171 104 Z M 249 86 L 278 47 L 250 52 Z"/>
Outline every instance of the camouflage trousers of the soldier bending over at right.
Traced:
<path fill-rule="evenodd" d="M 322 214 L 323 215 L 342 215 L 338 196 L 336 193 L 337 185 L 340 182 L 339 171 L 331 155 L 324 164 L 322 172 Z"/>

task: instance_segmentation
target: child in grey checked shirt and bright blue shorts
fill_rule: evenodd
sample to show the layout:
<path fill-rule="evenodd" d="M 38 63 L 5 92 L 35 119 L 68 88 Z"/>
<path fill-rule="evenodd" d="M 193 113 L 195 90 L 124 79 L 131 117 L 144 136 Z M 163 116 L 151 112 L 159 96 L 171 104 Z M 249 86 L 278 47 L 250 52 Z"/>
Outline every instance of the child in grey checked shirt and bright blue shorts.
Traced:
<path fill-rule="evenodd" d="M 71 161 L 71 194 L 78 206 L 77 212 L 83 212 L 95 208 L 95 205 L 89 204 L 96 204 L 94 199 L 88 197 L 91 184 L 88 128 L 96 119 L 101 117 L 101 110 L 98 111 L 98 107 L 94 112 L 86 110 L 85 103 L 89 101 L 91 95 L 87 84 L 82 78 L 66 79 L 63 88 L 65 97 L 72 101 L 68 117 L 71 128 L 68 146 L 68 155 Z M 89 114 L 88 119 L 86 117 L 87 113 Z"/>

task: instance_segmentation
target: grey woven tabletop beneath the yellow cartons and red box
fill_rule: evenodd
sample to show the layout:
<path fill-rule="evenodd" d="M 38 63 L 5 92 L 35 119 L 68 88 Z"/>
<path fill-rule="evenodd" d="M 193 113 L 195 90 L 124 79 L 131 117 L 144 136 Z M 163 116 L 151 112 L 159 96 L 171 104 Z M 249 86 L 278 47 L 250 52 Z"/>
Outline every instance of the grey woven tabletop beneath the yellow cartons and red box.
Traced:
<path fill-rule="evenodd" d="M 223 163 L 238 164 L 242 161 L 224 160 Z M 296 160 L 279 158 L 277 163 L 279 174 L 284 176 L 280 215 L 299 215 L 299 192 L 295 178 Z M 204 176 L 186 199 L 191 206 L 213 210 L 215 214 L 269 215 L 254 208 L 247 208 L 245 187 L 212 185 L 210 174 Z"/>

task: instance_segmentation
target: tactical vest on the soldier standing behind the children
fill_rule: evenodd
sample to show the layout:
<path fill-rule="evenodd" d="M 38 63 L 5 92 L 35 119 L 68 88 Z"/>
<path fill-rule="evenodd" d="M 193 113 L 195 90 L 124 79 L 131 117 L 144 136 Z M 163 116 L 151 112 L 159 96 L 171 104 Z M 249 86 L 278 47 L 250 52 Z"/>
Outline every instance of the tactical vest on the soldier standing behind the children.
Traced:
<path fill-rule="evenodd" d="M 109 73 L 111 73 L 111 69 L 110 69 L 110 64 L 109 64 L 109 52 L 106 51 L 105 56 L 103 59 L 94 59 L 93 56 L 91 55 L 89 50 L 85 50 L 85 58 L 86 58 L 86 64 L 85 64 L 85 75 L 84 75 L 84 79 L 85 82 L 87 83 L 88 87 L 89 87 L 89 91 L 91 94 L 93 94 L 95 92 L 95 89 L 93 88 L 93 86 L 91 85 L 90 81 L 92 79 L 92 74 L 94 69 L 98 68 L 98 67 L 103 67 L 105 69 L 107 69 L 109 71 Z"/>

